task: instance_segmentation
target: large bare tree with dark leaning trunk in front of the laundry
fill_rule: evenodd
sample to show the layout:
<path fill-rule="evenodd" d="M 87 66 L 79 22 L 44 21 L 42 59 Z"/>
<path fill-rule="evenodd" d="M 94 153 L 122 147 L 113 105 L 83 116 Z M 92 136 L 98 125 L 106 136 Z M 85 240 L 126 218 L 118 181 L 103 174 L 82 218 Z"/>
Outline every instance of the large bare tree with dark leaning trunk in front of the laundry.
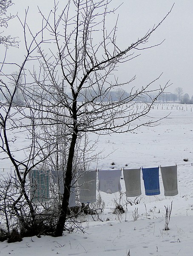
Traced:
<path fill-rule="evenodd" d="M 50 53 L 45 53 L 39 48 L 42 70 L 38 77 L 41 74 L 44 77 L 41 83 L 37 81 L 37 84 L 44 91 L 48 90 L 48 86 L 53 88 L 51 90 L 52 101 L 46 102 L 45 107 L 53 108 L 53 104 L 60 105 L 68 111 L 71 119 L 68 123 L 70 134 L 65 168 L 65 189 L 55 236 L 62 235 L 65 225 L 73 160 L 79 133 L 101 134 L 101 131 L 108 134 L 122 133 L 131 131 L 140 125 L 150 125 L 153 122 L 150 120 L 145 124 L 130 128 L 131 122 L 148 114 L 155 98 L 142 111 L 131 111 L 131 105 L 144 93 L 148 94 L 152 91 L 149 89 L 150 84 L 157 79 L 137 91 L 133 92 L 131 89 L 129 96 L 115 102 L 111 99 L 111 90 L 123 84 L 119 84 L 118 79 L 113 81 L 111 75 L 114 74 L 117 65 L 135 58 L 137 56 L 134 54 L 135 51 L 145 49 L 144 44 L 165 18 L 137 42 L 132 43 L 126 49 L 120 49 L 116 44 L 117 24 L 110 32 L 106 30 L 107 16 L 116 11 L 108 8 L 108 1 L 99 0 L 94 3 L 92 0 L 76 0 L 68 1 L 60 15 L 57 14 L 60 9 L 59 5 L 55 3 L 52 12 L 54 23 L 42 15 L 48 24 L 50 40 L 55 42 L 55 49 L 50 49 Z M 72 12 L 72 10 L 75 11 Z M 60 24 L 63 30 L 60 29 Z M 37 76 L 34 76 L 34 79 L 37 79 Z M 133 79 L 126 81 L 125 85 L 130 84 Z M 159 90 L 155 89 L 157 96 L 167 85 L 160 87 Z M 64 86 L 70 90 L 71 96 L 66 96 Z M 84 101 L 79 102 L 79 97 L 83 92 L 86 92 Z M 60 97 L 54 97 L 54 93 Z"/>

